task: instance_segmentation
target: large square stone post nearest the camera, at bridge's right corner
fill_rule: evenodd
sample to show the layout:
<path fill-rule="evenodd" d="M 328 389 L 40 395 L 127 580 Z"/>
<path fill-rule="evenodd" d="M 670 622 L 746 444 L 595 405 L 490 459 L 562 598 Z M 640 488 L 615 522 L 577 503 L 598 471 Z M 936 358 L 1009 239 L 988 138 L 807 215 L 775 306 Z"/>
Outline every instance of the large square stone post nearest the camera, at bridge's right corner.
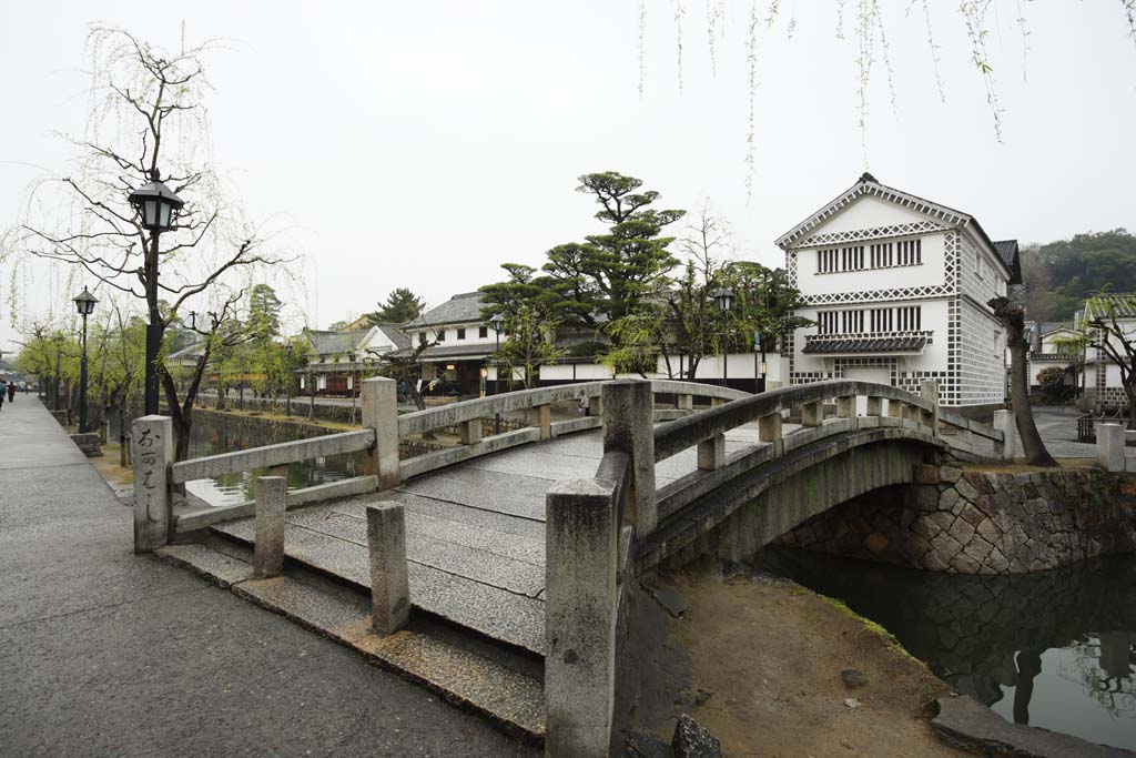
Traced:
<path fill-rule="evenodd" d="M 616 507 L 615 483 L 605 480 L 557 482 L 545 495 L 544 755 L 552 758 L 609 755 L 617 676 Z"/>

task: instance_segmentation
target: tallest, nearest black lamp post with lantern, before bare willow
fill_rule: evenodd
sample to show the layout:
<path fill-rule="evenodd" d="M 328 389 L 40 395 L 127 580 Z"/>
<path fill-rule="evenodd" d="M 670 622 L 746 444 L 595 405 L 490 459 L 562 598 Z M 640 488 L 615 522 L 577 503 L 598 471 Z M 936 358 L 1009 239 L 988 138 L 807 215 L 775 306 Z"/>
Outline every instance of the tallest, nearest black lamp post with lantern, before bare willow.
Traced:
<path fill-rule="evenodd" d="M 158 313 L 158 238 L 175 227 L 177 214 L 185 201 L 162 184 L 157 168 L 150 169 L 150 182 L 130 194 L 137 213 L 137 222 L 150 232 L 150 250 L 145 253 L 145 299 L 150 307 L 150 323 L 145 327 L 145 413 L 158 413 L 158 352 L 165 327 Z"/>

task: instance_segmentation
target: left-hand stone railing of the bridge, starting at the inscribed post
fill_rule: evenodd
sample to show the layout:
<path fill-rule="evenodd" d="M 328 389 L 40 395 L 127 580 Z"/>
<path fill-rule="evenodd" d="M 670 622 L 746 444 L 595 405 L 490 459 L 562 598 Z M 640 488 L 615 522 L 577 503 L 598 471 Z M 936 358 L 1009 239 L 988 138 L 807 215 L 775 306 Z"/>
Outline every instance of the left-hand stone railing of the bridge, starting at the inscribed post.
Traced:
<path fill-rule="evenodd" d="M 362 452 L 361 476 L 289 491 L 283 507 L 295 508 L 320 500 L 386 490 L 414 476 L 465 460 L 573 432 L 598 428 L 601 425 L 604 384 L 605 382 L 587 382 L 509 392 L 399 415 L 394 380 L 376 377 L 362 383 L 362 430 L 178 463 L 173 463 L 170 419 L 165 416 L 139 418 L 134 422 L 132 432 L 134 549 L 136 552 L 154 550 L 178 535 L 256 514 L 257 501 L 250 500 L 175 515 L 174 490 L 186 482 L 286 466 L 312 458 Z M 650 388 L 657 394 L 675 395 L 677 406 L 675 409 L 654 411 L 651 415 L 652 422 L 693 413 L 694 398 L 717 403 L 749 397 L 737 390 L 691 382 L 660 380 L 651 382 Z M 552 420 L 552 405 L 566 401 L 586 403 L 588 415 Z M 493 419 L 517 410 L 534 411 L 534 425 L 483 435 L 483 419 Z M 459 431 L 459 444 L 400 459 L 401 441 L 444 428 Z"/>

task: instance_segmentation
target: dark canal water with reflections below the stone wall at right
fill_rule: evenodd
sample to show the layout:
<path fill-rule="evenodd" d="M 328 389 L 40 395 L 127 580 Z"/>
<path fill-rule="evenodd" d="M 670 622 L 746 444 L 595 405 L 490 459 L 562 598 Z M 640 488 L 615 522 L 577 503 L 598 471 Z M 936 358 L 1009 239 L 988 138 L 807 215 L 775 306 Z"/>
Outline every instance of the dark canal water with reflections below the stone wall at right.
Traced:
<path fill-rule="evenodd" d="M 892 632 L 1004 718 L 1136 749 L 1136 557 L 952 576 L 768 548 L 755 559 Z"/>

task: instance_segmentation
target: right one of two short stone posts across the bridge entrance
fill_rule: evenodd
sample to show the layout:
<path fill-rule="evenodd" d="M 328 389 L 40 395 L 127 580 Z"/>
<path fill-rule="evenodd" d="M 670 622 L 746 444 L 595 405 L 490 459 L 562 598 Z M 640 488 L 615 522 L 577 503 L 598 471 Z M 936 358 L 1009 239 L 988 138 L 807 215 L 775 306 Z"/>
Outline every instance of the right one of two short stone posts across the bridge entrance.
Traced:
<path fill-rule="evenodd" d="M 370 620 L 377 634 L 391 634 L 410 618 L 407 567 L 407 525 L 402 506 L 367 506 L 367 547 L 370 555 Z"/>

